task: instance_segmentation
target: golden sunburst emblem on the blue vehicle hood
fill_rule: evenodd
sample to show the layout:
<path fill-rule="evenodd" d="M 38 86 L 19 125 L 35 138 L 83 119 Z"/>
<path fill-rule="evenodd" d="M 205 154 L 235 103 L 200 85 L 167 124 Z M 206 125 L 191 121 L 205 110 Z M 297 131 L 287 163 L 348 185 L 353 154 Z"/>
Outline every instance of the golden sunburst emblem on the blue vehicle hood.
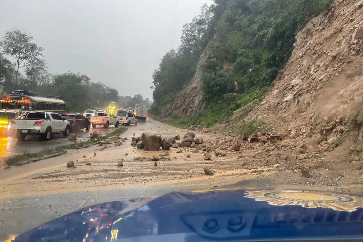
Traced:
<path fill-rule="evenodd" d="M 332 192 L 311 192 L 303 190 L 261 190 L 246 191 L 244 197 L 266 201 L 270 205 L 301 205 L 304 208 L 331 208 L 337 211 L 353 212 L 363 208 L 363 197 Z"/>

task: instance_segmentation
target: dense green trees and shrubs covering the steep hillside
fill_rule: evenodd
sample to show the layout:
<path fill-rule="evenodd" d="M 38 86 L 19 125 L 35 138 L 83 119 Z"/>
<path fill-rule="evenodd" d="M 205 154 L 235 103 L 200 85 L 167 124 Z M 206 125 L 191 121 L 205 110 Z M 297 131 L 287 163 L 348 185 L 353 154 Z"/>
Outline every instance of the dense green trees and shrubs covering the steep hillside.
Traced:
<path fill-rule="evenodd" d="M 209 125 L 228 121 L 233 111 L 264 95 L 289 60 L 295 34 L 333 0 L 213 2 L 184 26 L 181 46 L 167 53 L 155 70 L 153 114 L 160 114 L 161 107 L 188 84 L 200 53 L 215 34 L 213 56 L 203 66 L 208 110 L 183 120 Z M 185 46 L 189 51 L 183 51 Z"/>

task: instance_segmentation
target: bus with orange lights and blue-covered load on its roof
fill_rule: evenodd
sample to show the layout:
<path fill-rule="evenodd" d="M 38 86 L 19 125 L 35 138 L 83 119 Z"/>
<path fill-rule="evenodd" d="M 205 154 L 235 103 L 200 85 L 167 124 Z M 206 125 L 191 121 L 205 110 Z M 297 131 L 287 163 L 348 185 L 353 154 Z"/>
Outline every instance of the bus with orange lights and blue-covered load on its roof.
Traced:
<path fill-rule="evenodd" d="M 52 111 L 59 114 L 66 112 L 66 103 L 62 97 L 36 94 L 29 90 L 14 90 L 3 95 L 0 100 L 3 110 Z"/>

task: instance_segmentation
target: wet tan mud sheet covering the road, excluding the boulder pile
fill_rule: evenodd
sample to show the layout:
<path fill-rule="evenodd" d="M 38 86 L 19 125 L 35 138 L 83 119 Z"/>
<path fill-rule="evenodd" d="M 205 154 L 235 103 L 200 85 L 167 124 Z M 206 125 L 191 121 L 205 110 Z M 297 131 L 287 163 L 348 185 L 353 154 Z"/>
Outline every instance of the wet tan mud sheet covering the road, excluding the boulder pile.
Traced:
<path fill-rule="evenodd" d="M 150 120 L 129 129 L 120 138 L 126 139 L 120 146 L 95 145 L 82 150 L 70 150 L 63 156 L 41 160 L 21 167 L 12 167 L 0 171 L 0 197 L 22 197 L 61 192 L 85 191 L 90 189 L 107 188 L 112 186 L 144 186 L 152 184 L 166 184 L 175 182 L 190 182 L 191 184 L 205 184 L 209 188 L 229 184 L 241 180 L 241 177 L 256 177 L 258 173 L 270 172 L 273 168 L 244 169 L 245 160 L 237 159 L 240 153 L 234 152 L 226 157 L 212 157 L 204 160 L 202 151 L 192 153 L 191 148 L 171 148 L 170 155 L 164 159 L 154 161 L 134 157 L 152 157 L 164 155 L 165 151 L 144 151 L 130 145 L 133 134 L 140 136 L 143 132 L 160 134 L 163 138 L 183 135 L 187 130 L 168 126 Z M 203 138 L 205 142 L 215 140 L 216 134 L 196 131 L 196 138 Z M 126 155 L 127 154 L 127 155 Z M 187 155 L 190 157 L 187 157 Z M 169 160 L 168 160 L 169 158 Z M 76 168 L 67 168 L 68 161 L 74 161 Z M 119 161 L 123 167 L 118 167 Z M 90 163 L 91 165 L 86 165 Z M 204 168 L 216 171 L 215 175 L 207 176 Z M 213 182 L 211 182 L 213 179 Z M 189 184 L 190 187 L 192 185 Z"/>

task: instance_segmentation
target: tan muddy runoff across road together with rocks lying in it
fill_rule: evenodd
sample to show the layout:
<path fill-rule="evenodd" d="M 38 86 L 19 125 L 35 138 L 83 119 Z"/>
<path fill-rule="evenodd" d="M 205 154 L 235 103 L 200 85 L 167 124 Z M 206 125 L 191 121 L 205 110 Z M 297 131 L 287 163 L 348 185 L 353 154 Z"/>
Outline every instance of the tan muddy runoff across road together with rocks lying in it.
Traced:
<path fill-rule="evenodd" d="M 159 123 L 150 127 L 147 134 L 161 136 L 160 146 L 145 141 L 146 144 L 140 145 L 139 137 L 144 128 L 140 127 L 136 132 L 136 127 L 100 145 L 0 171 L 0 197 L 163 183 L 190 187 L 198 184 L 208 189 L 274 172 L 274 165 L 264 167 L 256 163 L 247 167 L 242 151 L 236 148 L 236 141 L 232 142 L 236 139 L 232 137 L 223 140 L 206 131 L 193 131 L 191 134 L 187 130 Z M 175 139 L 176 136 L 180 140 Z M 167 150 L 162 150 L 162 143 L 166 142 L 164 138 L 169 141 L 163 145 Z M 185 142 L 188 142 L 186 146 Z M 147 150 L 158 146 L 158 150 Z"/>

